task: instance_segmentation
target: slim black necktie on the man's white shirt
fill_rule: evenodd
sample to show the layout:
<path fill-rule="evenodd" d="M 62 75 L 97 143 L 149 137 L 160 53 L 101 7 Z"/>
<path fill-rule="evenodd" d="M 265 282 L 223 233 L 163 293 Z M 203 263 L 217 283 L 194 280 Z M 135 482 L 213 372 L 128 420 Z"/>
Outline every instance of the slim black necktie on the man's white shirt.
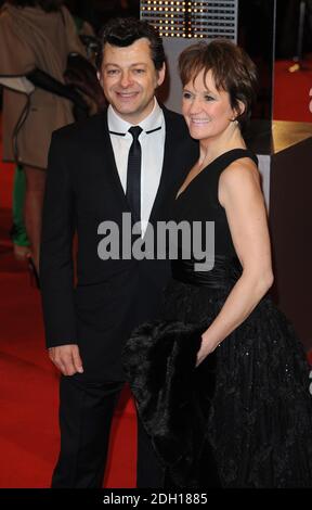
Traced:
<path fill-rule="evenodd" d="M 129 151 L 127 169 L 127 191 L 126 196 L 130 206 L 133 221 L 141 220 L 141 144 L 139 142 L 140 126 L 129 129 L 133 140 Z"/>

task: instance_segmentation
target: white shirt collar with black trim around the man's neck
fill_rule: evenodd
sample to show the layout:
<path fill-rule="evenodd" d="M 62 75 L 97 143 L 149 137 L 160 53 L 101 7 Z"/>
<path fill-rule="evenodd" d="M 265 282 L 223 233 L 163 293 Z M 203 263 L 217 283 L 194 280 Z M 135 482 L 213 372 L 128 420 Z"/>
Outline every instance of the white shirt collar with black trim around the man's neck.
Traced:
<path fill-rule="evenodd" d="M 145 117 L 139 126 L 143 129 L 143 135 L 146 135 L 146 131 L 153 131 L 154 129 L 157 129 L 162 126 L 164 122 L 164 113 L 162 110 L 160 109 L 157 99 L 154 98 L 154 107 L 150 115 Z M 123 120 L 113 109 L 112 104 L 109 104 L 107 109 L 107 122 L 108 122 L 108 129 L 110 132 L 116 132 L 116 133 L 128 133 L 129 128 L 132 126 L 132 124 L 128 123 L 127 120 Z M 129 133 L 130 136 L 130 133 Z"/>

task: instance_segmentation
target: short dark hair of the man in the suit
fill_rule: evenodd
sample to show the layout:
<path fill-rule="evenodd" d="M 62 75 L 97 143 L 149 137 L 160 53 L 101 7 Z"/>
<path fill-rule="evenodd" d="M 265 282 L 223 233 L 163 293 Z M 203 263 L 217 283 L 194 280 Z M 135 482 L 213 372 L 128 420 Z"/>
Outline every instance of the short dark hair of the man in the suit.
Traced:
<path fill-rule="evenodd" d="M 165 62 L 161 37 L 153 26 L 135 17 L 116 17 L 106 23 L 101 33 L 101 48 L 96 55 L 98 69 L 100 69 L 102 65 L 103 50 L 106 42 L 112 46 L 125 48 L 143 37 L 148 39 L 155 68 L 160 71 Z"/>

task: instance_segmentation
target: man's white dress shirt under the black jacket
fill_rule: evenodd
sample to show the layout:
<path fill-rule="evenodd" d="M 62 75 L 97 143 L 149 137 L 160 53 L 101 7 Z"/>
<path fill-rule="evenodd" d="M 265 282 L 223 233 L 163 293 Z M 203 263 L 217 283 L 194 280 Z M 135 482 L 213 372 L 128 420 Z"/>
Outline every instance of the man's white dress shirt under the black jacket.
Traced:
<path fill-rule="evenodd" d="M 128 130 L 132 127 L 132 124 L 119 117 L 112 105 L 108 106 L 107 122 L 119 179 L 126 194 L 128 155 L 133 140 Z M 142 153 L 141 231 L 143 235 L 158 190 L 164 162 L 165 117 L 156 98 L 153 111 L 138 126 L 143 129 L 139 137 Z M 157 129 L 159 127 L 160 129 Z M 154 129 L 155 131 L 153 131 Z M 148 131 L 153 132 L 148 133 Z M 125 136 L 120 136 L 120 133 L 125 133 Z"/>

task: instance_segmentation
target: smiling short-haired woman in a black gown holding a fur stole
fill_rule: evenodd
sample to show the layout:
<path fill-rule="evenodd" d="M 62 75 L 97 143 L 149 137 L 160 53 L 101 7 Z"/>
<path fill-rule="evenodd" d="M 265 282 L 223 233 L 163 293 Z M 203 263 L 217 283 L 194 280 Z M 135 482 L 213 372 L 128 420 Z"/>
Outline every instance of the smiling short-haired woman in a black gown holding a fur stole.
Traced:
<path fill-rule="evenodd" d="M 200 156 L 172 219 L 214 222 L 214 266 L 197 271 L 194 255 L 172 260 L 159 321 L 133 332 L 125 369 L 168 487 L 311 487 L 309 366 L 266 296 L 265 207 L 240 133 L 255 65 L 225 40 L 187 48 L 179 64 Z"/>

